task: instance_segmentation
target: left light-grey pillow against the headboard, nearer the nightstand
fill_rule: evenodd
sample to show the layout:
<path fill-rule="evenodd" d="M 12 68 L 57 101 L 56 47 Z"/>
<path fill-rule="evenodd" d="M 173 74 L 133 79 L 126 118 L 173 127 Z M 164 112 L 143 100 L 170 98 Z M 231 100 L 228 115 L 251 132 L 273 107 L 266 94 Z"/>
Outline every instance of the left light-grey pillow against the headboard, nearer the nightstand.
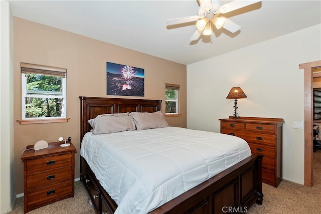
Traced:
<path fill-rule="evenodd" d="M 104 115 L 95 119 L 88 120 L 93 127 L 94 134 L 107 134 L 121 131 L 135 130 L 135 123 L 131 116 Z"/>

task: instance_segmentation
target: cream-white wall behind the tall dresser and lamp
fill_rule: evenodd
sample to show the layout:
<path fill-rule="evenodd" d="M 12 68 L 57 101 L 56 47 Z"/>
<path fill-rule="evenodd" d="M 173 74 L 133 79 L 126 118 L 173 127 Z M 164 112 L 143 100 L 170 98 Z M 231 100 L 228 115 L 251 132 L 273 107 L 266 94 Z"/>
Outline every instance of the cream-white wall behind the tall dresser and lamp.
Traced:
<path fill-rule="evenodd" d="M 320 34 L 316 25 L 188 65 L 188 128 L 220 132 L 218 119 L 234 111 L 234 101 L 226 96 L 240 86 L 247 95 L 238 100 L 240 116 L 284 119 L 282 175 L 303 184 L 304 129 L 293 128 L 294 121 L 304 122 L 299 64 L 321 59 Z"/>

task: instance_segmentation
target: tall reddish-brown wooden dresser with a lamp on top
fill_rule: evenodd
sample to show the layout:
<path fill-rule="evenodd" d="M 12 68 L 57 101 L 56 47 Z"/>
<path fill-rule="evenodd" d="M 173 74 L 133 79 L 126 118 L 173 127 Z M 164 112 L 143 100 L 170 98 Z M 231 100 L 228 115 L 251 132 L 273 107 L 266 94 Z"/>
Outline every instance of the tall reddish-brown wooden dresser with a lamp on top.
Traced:
<path fill-rule="evenodd" d="M 277 187 L 282 180 L 283 119 L 237 117 L 219 119 L 221 133 L 235 135 L 247 141 L 252 154 L 263 155 L 262 181 Z"/>

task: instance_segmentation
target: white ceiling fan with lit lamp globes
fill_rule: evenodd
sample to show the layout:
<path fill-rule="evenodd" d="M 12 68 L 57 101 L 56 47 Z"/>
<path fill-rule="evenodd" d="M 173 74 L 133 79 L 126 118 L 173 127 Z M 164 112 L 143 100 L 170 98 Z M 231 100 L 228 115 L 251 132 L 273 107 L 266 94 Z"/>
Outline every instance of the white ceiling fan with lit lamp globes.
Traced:
<path fill-rule="evenodd" d="M 232 22 L 231 20 L 220 16 L 229 12 L 244 8 L 246 6 L 255 4 L 261 1 L 232 1 L 225 5 L 218 0 L 199 0 L 200 7 L 198 15 L 191 17 L 183 17 L 178 19 L 171 19 L 167 21 L 167 25 L 177 25 L 188 22 L 196 22 L 196 31 L 191 37 L 191 41 L 199 39 L 203 35 L 212 35 L 214 26 L 217 29 L 224 28 L 232 33 L 240 30 L 241 26 Z"/>

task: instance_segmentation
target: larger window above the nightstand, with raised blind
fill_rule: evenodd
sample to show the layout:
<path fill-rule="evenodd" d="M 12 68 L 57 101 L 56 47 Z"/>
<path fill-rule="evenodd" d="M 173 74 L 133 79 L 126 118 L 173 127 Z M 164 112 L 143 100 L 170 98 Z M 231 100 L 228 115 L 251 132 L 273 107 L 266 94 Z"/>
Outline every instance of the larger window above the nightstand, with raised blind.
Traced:
<path fill-rule="evenodd" d="M 22 119 L 66 118 L 66 69 L 21 63 Z"/>

